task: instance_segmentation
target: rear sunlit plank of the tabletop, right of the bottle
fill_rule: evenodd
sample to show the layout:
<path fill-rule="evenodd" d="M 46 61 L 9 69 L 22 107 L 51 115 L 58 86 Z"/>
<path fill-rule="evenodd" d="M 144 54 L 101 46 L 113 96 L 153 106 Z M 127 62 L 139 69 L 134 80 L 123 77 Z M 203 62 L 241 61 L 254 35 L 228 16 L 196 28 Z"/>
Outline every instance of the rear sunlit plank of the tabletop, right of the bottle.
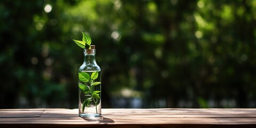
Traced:
<path fill-rule="evenodd" d="M 168 117 L 256 117 L 256 111 L 254 110 L 241 110 L 234 111 L 230 109 L 193 109 L 193 110 L 180 110 L 180 109 L 172 109 L 172 110 L 155 110 L 155 109 L 105 109 L 103 112 L 105 114 L 111 115 L 119 115 L 122 116 L 126 114 L 134 114 L 134 115 L 152 115 L 156 114 L 156 116 L 168 116 Z M 102 113 L 103 113 L 102 112 Z"/>

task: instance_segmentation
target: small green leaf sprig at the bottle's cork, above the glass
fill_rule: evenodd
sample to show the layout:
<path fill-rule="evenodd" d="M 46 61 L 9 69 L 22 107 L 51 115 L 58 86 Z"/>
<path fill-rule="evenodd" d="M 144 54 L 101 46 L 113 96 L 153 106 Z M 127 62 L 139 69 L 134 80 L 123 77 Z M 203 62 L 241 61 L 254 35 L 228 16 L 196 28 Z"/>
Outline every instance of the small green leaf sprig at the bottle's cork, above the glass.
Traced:
<path fill-rule="evenodd" d="M 73 39 L 73 41 L 79 46 L 79 47 L 82 47 L 83 49 L 91 49 L 91 43 L 92 43 L 92 40 L 91 40 L 91 37 L 87 34 L 85 34 L 83 31 L 82 31 L 82 34 L 83 34 L 83 39 L 82 41 L 78 41 L 78 40 L 75 40 Z"/>

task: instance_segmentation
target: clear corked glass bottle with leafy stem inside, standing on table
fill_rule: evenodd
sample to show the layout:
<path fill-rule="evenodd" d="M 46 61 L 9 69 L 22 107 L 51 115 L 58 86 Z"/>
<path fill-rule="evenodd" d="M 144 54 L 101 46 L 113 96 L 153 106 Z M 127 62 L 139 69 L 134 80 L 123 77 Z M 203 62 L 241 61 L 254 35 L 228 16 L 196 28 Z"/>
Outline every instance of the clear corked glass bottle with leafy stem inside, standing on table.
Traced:
<path fill-rule="evenodd" d="M 101 116 L 101 69 L 95 61 L 95 45 L 84 49 L 84 63 L 79 68 L 79 116 Z"/>

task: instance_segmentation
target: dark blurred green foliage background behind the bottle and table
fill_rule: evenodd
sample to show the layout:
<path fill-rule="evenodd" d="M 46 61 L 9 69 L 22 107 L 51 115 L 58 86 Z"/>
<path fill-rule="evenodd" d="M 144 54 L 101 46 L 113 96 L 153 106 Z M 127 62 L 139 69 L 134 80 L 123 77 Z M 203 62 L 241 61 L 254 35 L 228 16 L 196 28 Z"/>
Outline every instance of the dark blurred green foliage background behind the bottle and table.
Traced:
<path fill-rule="evenodd" d="M 0 2 L 0 108 L 77 108 L 89 34 L 102 107 L 256 107 L 256 1 Z"/>

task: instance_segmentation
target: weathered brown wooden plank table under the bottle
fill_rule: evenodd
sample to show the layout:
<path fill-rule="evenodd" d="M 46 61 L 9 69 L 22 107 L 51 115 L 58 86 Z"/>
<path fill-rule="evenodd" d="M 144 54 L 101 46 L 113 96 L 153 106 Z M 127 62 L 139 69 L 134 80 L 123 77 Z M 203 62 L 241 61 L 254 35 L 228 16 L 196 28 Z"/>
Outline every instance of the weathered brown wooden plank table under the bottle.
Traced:
<path fill-rule="evenodd" d="M 256 109 L 0 109 L 0 127 L 256 127 Z"/>

